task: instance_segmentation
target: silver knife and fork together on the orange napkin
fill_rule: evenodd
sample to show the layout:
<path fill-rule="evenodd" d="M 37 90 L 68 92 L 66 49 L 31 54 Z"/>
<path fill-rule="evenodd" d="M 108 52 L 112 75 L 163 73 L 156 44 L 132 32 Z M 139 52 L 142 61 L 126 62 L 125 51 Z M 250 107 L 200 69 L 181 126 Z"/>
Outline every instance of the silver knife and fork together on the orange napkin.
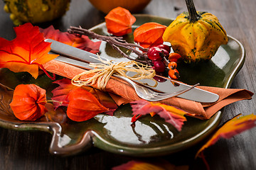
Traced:
<path fill-rule="evenodd" d="M 102 63 L 100 60 L 98 60 L 99 57 L 93 53 L 80 50 L 76 47 L 72 47 L 55 40 L 46 39 L 45 41 L 52 42 L 50 45 L 51 51 L 49 54 L 60 55 L 55 58 L 55 60 L 60 62 L 65 62 L 67 64 L 83 69 L 93 69 L 90 67 L 89 63 Z M 100 58 L 102 60 L 108 61 L 104 56 L 100 56 Z M 127 76 L 132 77 L 136 73 L 127 72 L 126 74 Z M 173 79 L 161 77 L 158 75 L 156 75 L 156 78 L 159 78 L 162 81 L 158 82 L 157 86 L 155 87 L 151 86 L 151 84 L 155 84 L 155 81 L 151 79 L 141 79 L 137 81 L 128 79 L 127 77 L 119 76 L 117 74 L 113 74 L 112 76 L 127 81 L 130 85 L 133 86 L 134 90 L 137 92 L 137 95 L 147 101 L 161 101 L 165 98 L 177 96 L 191 101 L 212 103 L 218 101 L 219 98 L 217 94 L 196 88 L 198 84 L 189 86 L 188 84 L 184 84 L 180 81 L 175 81 Z"/>

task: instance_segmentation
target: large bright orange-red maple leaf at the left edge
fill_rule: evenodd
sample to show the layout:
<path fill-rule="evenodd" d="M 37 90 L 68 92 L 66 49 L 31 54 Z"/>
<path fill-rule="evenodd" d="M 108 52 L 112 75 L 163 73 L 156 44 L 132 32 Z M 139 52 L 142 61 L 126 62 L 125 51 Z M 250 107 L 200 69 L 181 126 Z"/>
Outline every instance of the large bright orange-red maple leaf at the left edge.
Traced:
<path fill-rule="evenodd" d="M 25 23 L 14 30 L 16 32 L 14 40 L 0 38 L 0 67 L 8 68 L 13 72 L 29 72 L 36 79 L 38 68 L 43 69 L 42 64 L 58 55 L 48 55 L 50 43 L 44 41 L 43 33 L 40 33 L 37 26 Z"/>

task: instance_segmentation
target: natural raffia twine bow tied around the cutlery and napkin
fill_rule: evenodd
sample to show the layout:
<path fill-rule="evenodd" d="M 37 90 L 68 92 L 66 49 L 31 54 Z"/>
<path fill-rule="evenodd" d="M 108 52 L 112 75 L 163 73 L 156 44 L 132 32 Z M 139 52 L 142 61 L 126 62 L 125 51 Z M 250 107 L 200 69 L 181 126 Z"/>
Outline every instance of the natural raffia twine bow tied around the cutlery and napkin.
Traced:
<path fill-rule="evenodd" d="M 117 74 L 131 80 L 152 79 L 155 81 L 154 86 L 157 85 L 157 81 L 153 79 L 156 72 L 147 65 L 134 60 L 117 63 L 102 60 L 100 57 L 99 60 L 102 63 L 90 63 L 90 67 L 95 69 L 82 72 L 73 77 L 71 81 L 72 84 L 75 86 L 92 86 L 97 84 L 98 89 L 105 91 L 107 82 L 110 80 L 112 74 Z M 127 72 L 136 72 L 137 74 L 135 74 L 133 77 L 129 77 L 126 74 Z"/>

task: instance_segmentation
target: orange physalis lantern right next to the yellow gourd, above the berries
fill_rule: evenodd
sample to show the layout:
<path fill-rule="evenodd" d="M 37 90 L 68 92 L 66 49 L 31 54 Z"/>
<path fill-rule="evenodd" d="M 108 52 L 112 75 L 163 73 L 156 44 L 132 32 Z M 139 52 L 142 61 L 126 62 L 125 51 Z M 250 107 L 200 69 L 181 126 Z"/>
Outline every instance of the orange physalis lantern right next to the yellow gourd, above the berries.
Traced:
<path fill-rule="evenodd" d="M 166 30 L 166 26 L 160 23 L 144 23 L 134 30 L 134 42 L 144 48 L 163 44 L 164 30 Z"/>

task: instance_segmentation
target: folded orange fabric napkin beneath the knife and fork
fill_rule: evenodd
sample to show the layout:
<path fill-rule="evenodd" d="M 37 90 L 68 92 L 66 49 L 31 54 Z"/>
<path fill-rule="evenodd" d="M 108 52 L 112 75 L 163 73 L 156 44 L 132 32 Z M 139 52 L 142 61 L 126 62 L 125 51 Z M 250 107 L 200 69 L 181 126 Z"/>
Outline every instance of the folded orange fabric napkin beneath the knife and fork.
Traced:
<path fill-rule="evenodd" d="M 43 65 L 43 67 L 54 74 L 58 74 L 69 79 L 73 79 L 75 75 L 85 72 L 85 69 L 74 67 L 70 64 L 51 60 Z M 97 86 L 95 86 L 97 88 Z M 223 89 L 209 86 L 198 86 L 200 89 L 213 92 L 220 96 L 219 100 L 215 103 L 199 103 L 196 101 L 189 101 L 183 98 L 168 98 L 161 103 L 166 103 L 171 106 L 187 111 L 188 113 L 196 114 L 195 117 L 201 119 L 208 119 L 214 115 L 220 108 L 227 106 L 235 101 L 241 101 L 245 99 L 251 99 L 253 93 L 245 89 Z M 112 77 L 107 83 L 106 91 L 112 96 L 117 105 L 122 103 L 129 103 L 130 101 L 136 101 L 141 98 L 137 96 L 136 92 L 126 81 Z M 159 101 L 160 102 L 160 101 Z"/>

